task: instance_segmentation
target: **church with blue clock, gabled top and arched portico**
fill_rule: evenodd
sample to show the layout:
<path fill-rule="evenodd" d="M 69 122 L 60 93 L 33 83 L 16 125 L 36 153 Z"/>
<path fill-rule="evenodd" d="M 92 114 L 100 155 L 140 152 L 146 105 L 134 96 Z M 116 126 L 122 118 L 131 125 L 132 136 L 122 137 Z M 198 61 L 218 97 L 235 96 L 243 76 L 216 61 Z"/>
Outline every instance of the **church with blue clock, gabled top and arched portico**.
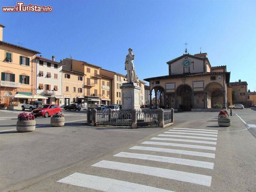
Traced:
<path fill-rule="evenodd" d="M 226 66 L 211 66 L 207 53 L 183 54 L 167 64 L 169 75 L 144 79 L 150 84 L 150 106 L 152 92 L 155 99 L 160 92 L 158 104 L 162 108 L 193 110 L 229 105 L 230 72 Z"/>

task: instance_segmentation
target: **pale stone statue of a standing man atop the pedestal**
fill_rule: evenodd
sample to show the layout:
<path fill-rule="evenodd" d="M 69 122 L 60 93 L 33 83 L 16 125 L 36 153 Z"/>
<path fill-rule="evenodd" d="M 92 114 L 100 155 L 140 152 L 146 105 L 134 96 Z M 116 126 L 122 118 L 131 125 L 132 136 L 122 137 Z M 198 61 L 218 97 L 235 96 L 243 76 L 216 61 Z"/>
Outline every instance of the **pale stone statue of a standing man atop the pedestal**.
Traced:
<path fill-rule="evenodd" d="M 136 82 L 136 72 L 133 64 L 135 55 L 132 53 L 131 48 L 129 48 L 128 51 L 129 51 L 129 54 L 126 55 L 124 69 L 127 70 L 127 82 L 131 83 L 131 82 Z"/>

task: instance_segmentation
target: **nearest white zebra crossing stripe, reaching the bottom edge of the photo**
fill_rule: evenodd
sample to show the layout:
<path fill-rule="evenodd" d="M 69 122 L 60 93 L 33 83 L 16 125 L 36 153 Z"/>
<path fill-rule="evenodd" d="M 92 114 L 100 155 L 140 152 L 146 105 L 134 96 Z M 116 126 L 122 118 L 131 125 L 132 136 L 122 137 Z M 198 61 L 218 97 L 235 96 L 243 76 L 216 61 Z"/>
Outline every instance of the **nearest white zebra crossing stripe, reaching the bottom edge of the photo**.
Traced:
<path fill-rule="evenodd" d="M 61 180 L 60 183 L 66 183 L 70 185 L 91 188 L 94 190 L 104 192 L 173 192 L 169 190 L 159 189 L 146 185 L 120 181 L 110 178 L 98 177 L 93 175 L 87 175 L 82 173 L 74 173 Z"/>

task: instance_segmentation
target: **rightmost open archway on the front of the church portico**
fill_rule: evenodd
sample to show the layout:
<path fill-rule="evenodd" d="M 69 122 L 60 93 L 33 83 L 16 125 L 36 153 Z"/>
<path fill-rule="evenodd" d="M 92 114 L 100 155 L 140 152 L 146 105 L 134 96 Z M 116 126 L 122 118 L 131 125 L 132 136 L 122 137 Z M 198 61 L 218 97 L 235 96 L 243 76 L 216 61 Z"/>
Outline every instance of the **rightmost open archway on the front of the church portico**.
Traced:
<path fill-rule="evenodd" d="M 212 108 L 214 104 L 221 104 L 226 108 L 226 92 L 222 84 L 212 82 L 205 86 L 206 106 Z"/>

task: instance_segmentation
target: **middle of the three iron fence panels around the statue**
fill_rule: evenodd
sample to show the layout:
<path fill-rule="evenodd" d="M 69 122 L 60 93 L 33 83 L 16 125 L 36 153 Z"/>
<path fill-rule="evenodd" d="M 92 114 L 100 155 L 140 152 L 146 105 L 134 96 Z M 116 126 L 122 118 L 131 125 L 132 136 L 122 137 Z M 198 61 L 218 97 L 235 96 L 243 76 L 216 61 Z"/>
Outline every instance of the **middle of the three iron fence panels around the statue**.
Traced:
<path fill-rule="evenodd" d="M 159 125 L 157 110 L 143 109 L 137 111 L 138 126 L 156 126 Z"/>

